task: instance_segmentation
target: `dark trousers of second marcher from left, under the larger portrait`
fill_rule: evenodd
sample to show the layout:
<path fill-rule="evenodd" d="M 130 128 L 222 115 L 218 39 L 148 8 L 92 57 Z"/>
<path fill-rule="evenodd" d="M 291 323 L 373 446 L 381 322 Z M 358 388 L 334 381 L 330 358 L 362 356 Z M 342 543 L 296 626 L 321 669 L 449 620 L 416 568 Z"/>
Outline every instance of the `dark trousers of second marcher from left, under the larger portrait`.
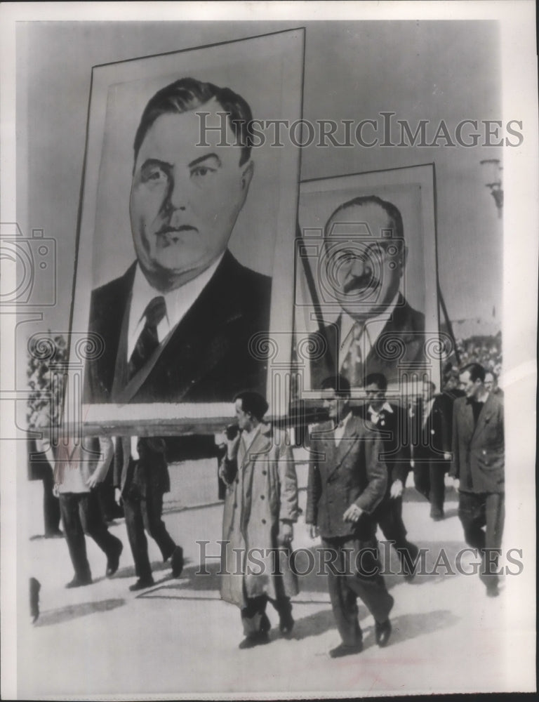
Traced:
<path fill-rule="evenodd" d="M 163 513 L 163 493 L 148 485 L 145 494 L 135 484 L 131 485 L 124 497 L 127 536 L 135 562 L 135 573 L 142 580 L 152 577 L 152 566 L 148 557 L 148 542 L 144 530 L 148 532 L 161 550 L 163 560 L 170 558 L 176 545 L 166 531 L 161 519 Z"/>

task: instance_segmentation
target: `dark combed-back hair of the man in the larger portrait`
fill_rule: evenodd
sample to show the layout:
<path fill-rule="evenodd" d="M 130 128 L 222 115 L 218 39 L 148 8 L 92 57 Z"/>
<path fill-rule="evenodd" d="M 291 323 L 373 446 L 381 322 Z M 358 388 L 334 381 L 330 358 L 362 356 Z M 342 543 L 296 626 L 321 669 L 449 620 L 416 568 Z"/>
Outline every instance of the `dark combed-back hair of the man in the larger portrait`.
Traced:
<path fill-rule="evenodd" d="M 251 157 L 250 131 L 253 121 L 251 107 L 241 95 L 234 93 L 230 88 L 219 88 L 213 83 L 202 83 L 195 78 L 181 78 L 161 88 L 149 100 L 142 112 L 133 143 L 135 161 L 146 133 L 157 117 L 161 114 L 181 114 L 196 110 L 212 98 L 217 100 L 222 107 L 222 112 L 228 113 L 228 121 L 236 138 L 236 144 L 241 146 L 239 165 L 246 163 Z"/>

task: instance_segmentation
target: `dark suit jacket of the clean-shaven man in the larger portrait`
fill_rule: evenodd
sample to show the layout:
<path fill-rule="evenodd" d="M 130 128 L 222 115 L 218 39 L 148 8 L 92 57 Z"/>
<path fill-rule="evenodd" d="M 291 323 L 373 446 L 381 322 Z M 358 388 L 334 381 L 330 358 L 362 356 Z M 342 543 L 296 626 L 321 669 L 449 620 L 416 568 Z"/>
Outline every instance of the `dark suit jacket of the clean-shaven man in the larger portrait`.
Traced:
<path fill-rule="evenodd" d="M 249 340 L 270 328 L 271 279 L 225 252 L 185 317 L 128 378 L 127 333 L 133 264 L 92 293 L 89 331 L 105 350 L 88 361 L 85 402 L 230 402 L 245 388 L 265 392 L 267 362 Z"/>

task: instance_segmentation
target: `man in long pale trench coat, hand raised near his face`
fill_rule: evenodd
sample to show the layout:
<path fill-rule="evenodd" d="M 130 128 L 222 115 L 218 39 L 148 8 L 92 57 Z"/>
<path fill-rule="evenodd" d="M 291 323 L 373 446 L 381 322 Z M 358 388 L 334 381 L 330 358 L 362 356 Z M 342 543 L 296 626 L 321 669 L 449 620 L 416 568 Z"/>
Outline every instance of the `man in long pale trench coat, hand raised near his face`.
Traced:
<path fill-rule="evenodd" d="M 290 568 L 298 481 L 285 432 L 262 421 L 267 402 L 256 392 L 234 399 L 239 432 L 227 436 L 220 476 L 227 484 L 223 514 L 221 597 L 241 609 L 241 649 L 269 641 L 270 600 L 279 628 L 293 628 L 290 597 L 298 581 Z"/>

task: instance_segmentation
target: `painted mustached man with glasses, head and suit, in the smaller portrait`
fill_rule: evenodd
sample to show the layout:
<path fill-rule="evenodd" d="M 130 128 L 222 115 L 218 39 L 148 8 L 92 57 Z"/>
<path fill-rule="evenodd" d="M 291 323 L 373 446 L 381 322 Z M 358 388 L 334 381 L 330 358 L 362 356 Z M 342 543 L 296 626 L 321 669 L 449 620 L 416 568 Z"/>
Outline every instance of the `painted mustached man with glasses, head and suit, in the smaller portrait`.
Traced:
<path fill-rule="evenodd" d="M 361 388 L 369 373 L 392 382 L 399 369 L 421 364 L 425 314 L 404 294 L 407 257 L 403 220 L 392 202 L 362 195 L 333 211 L 324 229 L 321 276 L 340 314 L 317 332 L 325 351 L 312 359 L 312 388 L 336 372 L 352 388 Z"/>

